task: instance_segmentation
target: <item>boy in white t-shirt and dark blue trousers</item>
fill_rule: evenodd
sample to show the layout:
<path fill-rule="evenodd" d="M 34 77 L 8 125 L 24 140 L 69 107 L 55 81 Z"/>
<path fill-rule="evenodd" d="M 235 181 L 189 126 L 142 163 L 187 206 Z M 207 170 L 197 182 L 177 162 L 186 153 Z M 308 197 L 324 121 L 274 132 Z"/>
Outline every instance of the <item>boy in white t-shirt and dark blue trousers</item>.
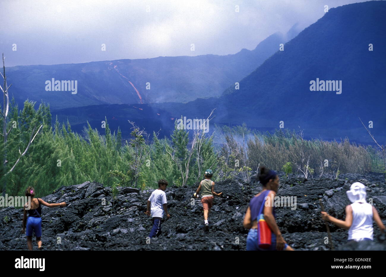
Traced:
<path fill-rule="evenodd" d="M 168 213 L 168 206 L 166 204 L 165 189 L 168 186 L 168 182 L 164 179 L 158 181 L 158 189 L 152 192 L 151 196 L 147 200 L 146 215 L 151 215 L 153 218 L 153 228 L 150 231 L 149 237 L 161 235 L 161 219 L 165 211 L 167 218 L 170 217 Z M 151 213 L 150 213 L 151 205 Z"/>

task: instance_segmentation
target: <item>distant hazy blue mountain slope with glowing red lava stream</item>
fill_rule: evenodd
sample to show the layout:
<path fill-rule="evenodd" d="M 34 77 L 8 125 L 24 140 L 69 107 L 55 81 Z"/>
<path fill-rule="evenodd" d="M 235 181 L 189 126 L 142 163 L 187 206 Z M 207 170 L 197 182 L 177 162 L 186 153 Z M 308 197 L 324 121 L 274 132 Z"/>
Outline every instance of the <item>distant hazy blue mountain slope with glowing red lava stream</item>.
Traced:
<path fill-rule="evenodd" d="M 296 29 L 291 29 L 291 34 Z M 15 66 L 6 69 L 10 94 L 50 103 L 54 110 L 100 105 L 182 102 L 219 96 L 271 56 L 286 35 L 275 33 L 249 51 L 227 56 L 201 55 L 122 59 L 82 64 Z M 46 81 L 77 81 L 77 93 L 46 91 Z M 146 89 L 147 82 L 150 90 Z"/>

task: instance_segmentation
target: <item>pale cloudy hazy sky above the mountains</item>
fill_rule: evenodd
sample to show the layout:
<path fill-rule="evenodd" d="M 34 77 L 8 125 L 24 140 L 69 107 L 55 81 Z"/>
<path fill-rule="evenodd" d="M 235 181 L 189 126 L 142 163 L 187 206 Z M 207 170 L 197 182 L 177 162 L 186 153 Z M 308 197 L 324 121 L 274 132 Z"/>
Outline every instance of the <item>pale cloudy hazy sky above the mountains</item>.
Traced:
<path fill-rule="evenodd" d="M 0 51 L 6 66 L 227 55 L 296 22 L 304 29 L 325 14 L 324 5 L 356 2 L 366 1 L 1 0 Z"/>

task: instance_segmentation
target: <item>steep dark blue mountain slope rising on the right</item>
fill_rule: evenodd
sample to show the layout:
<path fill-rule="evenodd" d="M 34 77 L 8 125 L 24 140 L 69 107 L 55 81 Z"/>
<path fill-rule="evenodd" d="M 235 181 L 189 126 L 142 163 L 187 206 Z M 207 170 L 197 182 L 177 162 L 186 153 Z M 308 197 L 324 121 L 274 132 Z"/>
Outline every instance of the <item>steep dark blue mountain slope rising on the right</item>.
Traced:
<path fill-rule="evenodd" d="M 371 141 L 358 117 L 386 140 L 385 1 L 332 8 L 220 98 L 186 105 L 154 105 L 174 114 L 202 118 L 217 108 L 213 122 L 250 127 L 305 129 L 326 139 Z M 369 51 L 369 44 L 373 51 Z M 310 91 L 310 81 L 342 81 L 341 94 Z"/>

